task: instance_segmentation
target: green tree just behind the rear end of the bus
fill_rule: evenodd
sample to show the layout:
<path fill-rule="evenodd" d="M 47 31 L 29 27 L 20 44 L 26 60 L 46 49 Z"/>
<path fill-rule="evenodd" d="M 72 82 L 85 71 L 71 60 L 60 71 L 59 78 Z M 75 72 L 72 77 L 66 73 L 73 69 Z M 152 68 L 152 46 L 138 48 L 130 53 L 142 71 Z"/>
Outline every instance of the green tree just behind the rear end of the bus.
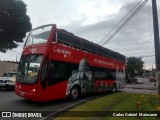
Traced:
<path fill-rule="evenodd" d="M 143 74 L 143 64 L 141 57 L 128 57 L 126 70 L 130 73 L 131 77 Z"/>

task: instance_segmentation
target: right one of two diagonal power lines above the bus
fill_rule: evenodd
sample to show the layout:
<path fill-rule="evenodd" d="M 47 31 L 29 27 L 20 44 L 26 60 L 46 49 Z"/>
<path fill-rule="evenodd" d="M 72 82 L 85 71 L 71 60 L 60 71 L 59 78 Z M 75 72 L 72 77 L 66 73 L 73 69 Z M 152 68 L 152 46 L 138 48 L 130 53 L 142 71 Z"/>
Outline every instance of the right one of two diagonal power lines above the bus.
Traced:
<path fill-rule="evenodd" d="M 110 35 L 110 37 L 102 44 L 102 46 L 104 46 L 107 42 L 109 42 L 130 20 L 131 18 L 133 18 L 137 12 L 147 3 L 148 0 L 145 0 L 131 15 L 130 17 L 125 20 L 123 22 L 123 24 L 121 26 L 118 27 L 118 29 L 112 34 Z"/>

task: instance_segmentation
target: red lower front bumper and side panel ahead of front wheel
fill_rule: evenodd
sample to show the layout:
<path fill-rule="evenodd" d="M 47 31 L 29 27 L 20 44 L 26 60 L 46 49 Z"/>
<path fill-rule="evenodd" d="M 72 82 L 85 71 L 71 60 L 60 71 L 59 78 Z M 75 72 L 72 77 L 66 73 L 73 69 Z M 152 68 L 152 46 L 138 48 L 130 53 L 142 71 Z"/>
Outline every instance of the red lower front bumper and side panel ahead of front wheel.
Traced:
<path fill-rule="evenodd" d="M 40 84 L 39 84 L 40 85 Z M 19 86 L 23 86 L 19 89 Z M 31 89 L 37 88 L 36 85 L 23 85 L 23 84 L 16 84 L 15 93 L 18 96 L 24 97 L 29 100 L 33 101 L 48 101 L 54 99 L 60 99 L 66 97 L 66 88 L 67 88 L 67 81 L 63 81 L 61 83 L 55 84 L 54 86 L 49 86 L 46 89 L 38 89 L 36 92 L 30 92 Z M 21 92 L 24 93 L 24 96 L 21 95 Z"/>

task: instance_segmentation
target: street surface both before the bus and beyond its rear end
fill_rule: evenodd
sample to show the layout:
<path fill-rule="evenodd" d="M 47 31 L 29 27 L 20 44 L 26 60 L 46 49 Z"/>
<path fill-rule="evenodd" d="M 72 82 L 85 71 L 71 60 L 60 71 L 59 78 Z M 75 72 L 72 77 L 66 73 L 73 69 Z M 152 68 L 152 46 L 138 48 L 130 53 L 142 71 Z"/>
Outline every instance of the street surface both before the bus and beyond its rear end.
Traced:
<path fill-rule="evenodd" d="M 156 94 L 157 87 L 153 82 L 149 82 L 148 79 L 144 80 L 144 84 L 127 84 L 126 88 L 119 91 L 131 92 L 131 93 L 148 93 Z M 92 98 L 93 96 L 91 96 Z M 0 90 L 0 111 L 41 111 L 53 114 L 56 111 L 64 111 L 64 108 L 73 107 L 81 101 L 85 101 L 86 97 L 80 98 L 77 101 L 71 102 L 67 99 L 54 100 L 48 102 L 33 102 L 15 95 L 13 90 L 2 89 Z"/>

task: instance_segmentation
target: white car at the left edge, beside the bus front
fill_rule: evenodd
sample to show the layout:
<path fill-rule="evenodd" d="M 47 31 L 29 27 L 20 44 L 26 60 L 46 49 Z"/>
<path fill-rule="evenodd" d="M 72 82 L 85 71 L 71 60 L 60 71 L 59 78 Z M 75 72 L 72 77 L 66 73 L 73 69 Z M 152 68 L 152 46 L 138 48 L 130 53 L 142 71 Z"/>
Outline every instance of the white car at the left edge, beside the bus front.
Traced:
<path fill-rule="evenodd" d="M 3 77 L 0 77 L 0 89 L 1 88 L 14 88 L 17 72 L 10 72 Z"/>

